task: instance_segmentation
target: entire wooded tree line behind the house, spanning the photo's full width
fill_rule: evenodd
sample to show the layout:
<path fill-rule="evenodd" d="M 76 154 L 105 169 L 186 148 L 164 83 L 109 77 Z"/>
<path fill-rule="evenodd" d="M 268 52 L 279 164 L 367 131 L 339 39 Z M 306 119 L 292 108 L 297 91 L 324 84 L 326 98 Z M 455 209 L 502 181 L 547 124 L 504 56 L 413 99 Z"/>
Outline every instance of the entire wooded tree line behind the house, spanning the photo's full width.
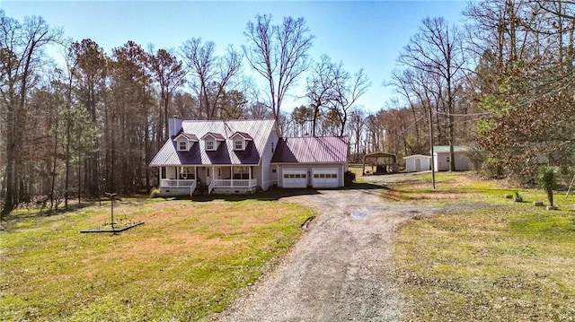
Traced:
<path fill-rule="evenodd" d="M 376 151 L 429 154 L 433 137 L 476 146 L 475 161 L 491 174 L 529 178 L 542 160 L 567 171 L 574 8 L 497 0 L 469 4 L 465 25 L 425 19 L 387 82 L 400 99 L 376 113 L 357 105 L 371 85 L 363 70 L 309 57 L 314 35 L 303 18 L 274 24 L 258 15 L 243 46 L 222 52 L 190 38 L 174 49 L 128 41 L 108 55 L 41 17 L 19 22 L 0 11 L 2 214 L 35 198 L 54 207 L 149 191 L 157 178 L 147 163 L 173 115 L 274 117 L 285 136 L 349 135 L 350 161 Z M 286 107 L 296 83 L 305 84 L 305 104 Z"/>

